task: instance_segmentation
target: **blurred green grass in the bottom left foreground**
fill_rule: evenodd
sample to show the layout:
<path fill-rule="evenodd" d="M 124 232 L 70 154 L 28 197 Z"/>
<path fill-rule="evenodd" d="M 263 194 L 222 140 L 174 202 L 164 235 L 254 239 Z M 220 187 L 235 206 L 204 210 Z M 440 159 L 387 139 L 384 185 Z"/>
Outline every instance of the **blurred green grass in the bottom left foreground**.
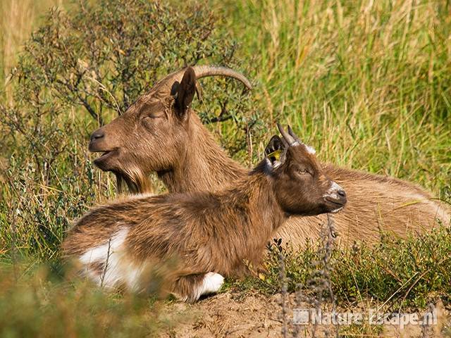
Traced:
<path fill-rule="evenodd" d="M 1 267 L 1 337 L 154 337 L 171 327 L 152 298 L 107 294 L 62 274 L 55 264 Z"/>

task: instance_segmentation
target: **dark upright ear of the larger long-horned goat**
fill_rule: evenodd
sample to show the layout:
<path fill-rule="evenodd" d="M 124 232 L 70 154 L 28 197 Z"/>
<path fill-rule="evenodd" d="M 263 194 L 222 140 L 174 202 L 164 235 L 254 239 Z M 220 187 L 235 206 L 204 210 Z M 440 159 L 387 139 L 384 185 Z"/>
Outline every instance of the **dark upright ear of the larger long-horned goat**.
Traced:
<path fill-rule="evenodd" d="M 175 97 L 175 111 L 178 116 L 183 117 L 190 108 L 192 99 L 196 92 L 196 74 L 192 67 L 188 67 L 183 74 L 182 82 L 174 82 L 171 95 Z"/>

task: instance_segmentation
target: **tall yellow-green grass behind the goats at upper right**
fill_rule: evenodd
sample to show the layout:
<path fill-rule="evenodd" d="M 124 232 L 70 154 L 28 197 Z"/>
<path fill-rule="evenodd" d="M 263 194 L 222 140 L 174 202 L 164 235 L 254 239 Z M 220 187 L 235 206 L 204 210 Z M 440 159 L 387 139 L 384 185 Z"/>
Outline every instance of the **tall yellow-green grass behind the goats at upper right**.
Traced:
<path fill-rule="evenodd" d="M 268 133 L 276 120 L 290 122 L 325 161 L 445 192 L 451 177 L 445 4 L 233 4 L 223 11 L 240 57 L 252 61 L 254 104 L 264 111 Z M 256 141 L 259 149 L 266 138 Z"/>

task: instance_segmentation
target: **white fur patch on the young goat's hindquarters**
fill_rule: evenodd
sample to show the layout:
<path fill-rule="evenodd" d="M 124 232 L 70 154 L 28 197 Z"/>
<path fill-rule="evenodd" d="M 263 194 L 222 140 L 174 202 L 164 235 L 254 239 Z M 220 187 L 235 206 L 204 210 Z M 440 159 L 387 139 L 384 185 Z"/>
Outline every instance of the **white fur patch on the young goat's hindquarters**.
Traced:
<path fill-rule="evenodd" d="M 130 290 L 137 291 L 143 267 L 136 267 L 127 259 L 123 247 L 127 235 L 128 229 L 122 228 L 113 234 L 109 242 L 89 249 L 80 256 L 80 262 L 85 265 L 85 274 L 99 286 L 125 284 Z M 89 267 L 92 263 L 104 265 L 100 275 Z"/>

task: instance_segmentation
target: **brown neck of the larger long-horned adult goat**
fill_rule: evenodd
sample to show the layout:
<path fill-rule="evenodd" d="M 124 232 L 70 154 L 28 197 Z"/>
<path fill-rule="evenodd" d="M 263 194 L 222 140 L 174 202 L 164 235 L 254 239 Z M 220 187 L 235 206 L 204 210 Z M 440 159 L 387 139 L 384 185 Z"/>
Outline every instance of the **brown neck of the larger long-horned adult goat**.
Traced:
<path fill-rule="evenodd" d="M 228 157 L 194 113 L 187 149 L 180 161 L 159 177 L 169 192 L 215 191 L 245 175 L 245 168 Z"/>

